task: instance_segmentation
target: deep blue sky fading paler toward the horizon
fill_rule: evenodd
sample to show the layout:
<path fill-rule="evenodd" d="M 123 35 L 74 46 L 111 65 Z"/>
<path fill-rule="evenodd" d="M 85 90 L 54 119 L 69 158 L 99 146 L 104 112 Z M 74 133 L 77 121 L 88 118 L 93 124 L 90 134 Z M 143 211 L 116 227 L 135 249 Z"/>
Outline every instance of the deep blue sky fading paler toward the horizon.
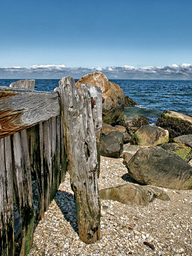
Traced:
<path fill-rule="evenodd" d="M 155 71 L 155 67 L 192 64 L 191 11 L 191 0 L 1 0 L 0 78 L 60 78 L 66 71 L 80 78 L 93 67 L 101 72 L 124 66 Z M 41 73 L 35 72 L 34 65 L 44 65 L 45 71 L 41 67 Z M 61 66 L 57 73 L 52 66 L 53 75 L 45 65 L 65 65 L 68 70 Z M 20 72 L 3 69 L 18 66 Z M 158 78 L 192 79 L 192 67 L 188 69 Z M 138 71 L 133 77 L 129 71 L 108 76 L 143 77 Z M 146 78 L 155 78 L 152 75 L 148 72 Z"/>

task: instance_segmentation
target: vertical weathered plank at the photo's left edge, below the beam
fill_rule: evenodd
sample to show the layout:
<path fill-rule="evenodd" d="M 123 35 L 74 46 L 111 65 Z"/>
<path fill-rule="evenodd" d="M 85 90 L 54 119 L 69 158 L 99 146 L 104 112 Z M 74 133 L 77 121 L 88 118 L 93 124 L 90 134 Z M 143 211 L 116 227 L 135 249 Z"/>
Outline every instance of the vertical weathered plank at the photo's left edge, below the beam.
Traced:
<path fill-rule="evenodd" d="M 10 136 L 0 139 L 0 255 L 14 255 L 13 173 Z"/>

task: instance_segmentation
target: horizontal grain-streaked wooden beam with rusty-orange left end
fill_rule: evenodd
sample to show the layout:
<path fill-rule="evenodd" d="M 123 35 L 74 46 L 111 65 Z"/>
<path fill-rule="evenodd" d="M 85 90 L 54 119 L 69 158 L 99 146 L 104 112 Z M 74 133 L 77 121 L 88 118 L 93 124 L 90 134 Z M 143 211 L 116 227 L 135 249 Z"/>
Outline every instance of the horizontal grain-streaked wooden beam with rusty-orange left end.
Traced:
<path fill-rule="evenodd" d="M 58 92 L 0 86 L 0 139 L 58 115 Z"/>

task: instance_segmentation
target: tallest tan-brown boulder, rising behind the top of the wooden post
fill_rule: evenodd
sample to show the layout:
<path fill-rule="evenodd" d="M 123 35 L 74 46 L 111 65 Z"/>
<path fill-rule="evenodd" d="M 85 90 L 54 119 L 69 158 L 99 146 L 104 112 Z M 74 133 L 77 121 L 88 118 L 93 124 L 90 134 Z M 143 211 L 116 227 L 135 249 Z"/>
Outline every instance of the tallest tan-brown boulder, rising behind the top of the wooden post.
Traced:
<path fill-rule="evenodd" d="M 79 79 L 76 82 L 79 90 L 81 84 L 92 84 L 102 88 L 104 98 L 102 120 L 104 123 L 115 124 L 122 119 L 125 108 L 124 91 L 118 84 L 109 82 L 101 72 L 90 73 Z"/>

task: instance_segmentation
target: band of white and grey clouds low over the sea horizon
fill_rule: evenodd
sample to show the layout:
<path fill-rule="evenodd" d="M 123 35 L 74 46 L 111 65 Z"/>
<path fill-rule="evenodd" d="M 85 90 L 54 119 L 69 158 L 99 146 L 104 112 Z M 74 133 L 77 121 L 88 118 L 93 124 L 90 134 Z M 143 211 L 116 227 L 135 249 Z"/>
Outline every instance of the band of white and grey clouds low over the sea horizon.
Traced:
<path fill-rule="evenodd" d="M 81 78 L 92 72 L 102 72 L 108 79 L 192 79 L 192 65 L 183 63 L 157 67 L 92 67 L 69 68 L 65 65 L 33 65 L 0 68 L 0 79 L 60 79 L 63 76 Z"/>

